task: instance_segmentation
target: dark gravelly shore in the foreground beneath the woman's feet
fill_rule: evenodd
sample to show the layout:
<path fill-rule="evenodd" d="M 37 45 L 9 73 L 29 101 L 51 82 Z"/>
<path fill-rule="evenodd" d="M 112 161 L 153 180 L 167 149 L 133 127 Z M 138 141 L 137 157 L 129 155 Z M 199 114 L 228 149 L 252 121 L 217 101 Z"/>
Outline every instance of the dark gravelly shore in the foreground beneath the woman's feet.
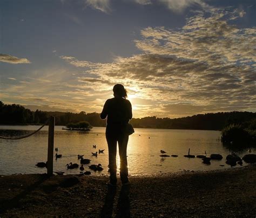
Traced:
<path fill-rule="evenodd" d="M 254 217 L 256 166 L 218 171 L 130 176 L 0 176 L 0 216 Z"/>

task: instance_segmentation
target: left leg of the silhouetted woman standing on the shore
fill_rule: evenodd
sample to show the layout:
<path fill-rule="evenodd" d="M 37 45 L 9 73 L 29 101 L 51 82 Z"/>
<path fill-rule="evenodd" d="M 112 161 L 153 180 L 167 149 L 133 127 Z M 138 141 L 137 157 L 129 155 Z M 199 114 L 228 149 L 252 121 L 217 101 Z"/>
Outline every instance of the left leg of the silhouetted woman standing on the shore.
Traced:
<path fill-rule="evenodd" d="M 110 182 L 114 185 L 117 183 L 117 139 L 113 134 L 106 132 L 107 146 L 109 147 L 109 171 Z"/>

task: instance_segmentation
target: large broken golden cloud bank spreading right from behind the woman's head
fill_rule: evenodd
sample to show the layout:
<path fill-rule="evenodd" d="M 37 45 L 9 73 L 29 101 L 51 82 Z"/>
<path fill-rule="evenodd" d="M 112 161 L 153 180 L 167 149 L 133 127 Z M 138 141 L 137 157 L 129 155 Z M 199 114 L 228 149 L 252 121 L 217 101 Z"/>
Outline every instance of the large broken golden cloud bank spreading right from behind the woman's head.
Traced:
<path fill-rule="evenodd" d="M 112 63 L 62 59 L 84 69 L 87 76 L 79 81 L 96 92 L 122 83 L 134 102 L 152 101 L 154 110 L 136 104 L 138 114 L 256 110 L 256 28 L 231 25 L 240 15 L 239 10 L 215 9 L 210 16 L 200 12 L 188 18 L 178 30 L 145 28 L 142 39 L 134 41 L 142 54 L 116 57 Z"/>

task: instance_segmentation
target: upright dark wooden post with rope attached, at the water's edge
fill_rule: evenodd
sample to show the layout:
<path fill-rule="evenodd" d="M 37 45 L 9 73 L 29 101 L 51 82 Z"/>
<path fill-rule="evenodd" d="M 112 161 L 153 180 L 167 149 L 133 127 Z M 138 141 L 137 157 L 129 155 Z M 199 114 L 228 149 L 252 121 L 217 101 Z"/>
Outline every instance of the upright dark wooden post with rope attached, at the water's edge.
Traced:
<path fill-rule="evenodd" d="M 51 116 L 49 120 L 48 131 L 48 158 L 47 158 L 47 174 L 53 174 L 53 147 L 54 147 L 54 126 L 55 117 Z"/>

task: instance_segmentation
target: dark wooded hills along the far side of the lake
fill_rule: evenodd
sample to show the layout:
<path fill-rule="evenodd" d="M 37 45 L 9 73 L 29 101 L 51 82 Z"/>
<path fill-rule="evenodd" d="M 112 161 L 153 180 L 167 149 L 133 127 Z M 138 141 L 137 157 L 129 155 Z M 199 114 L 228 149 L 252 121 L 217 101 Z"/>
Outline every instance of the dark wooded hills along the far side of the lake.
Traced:
<path fill-rule="evenodd" d="M 106 121 L 100 119 L 99 113 L 71 112 L 47 112 L 30 111 L 21 105 L 6 105 L 0 101 L 0 124 L 4 125 L 39 125 L 44 124 L 49 116 L 55 116 L 56 125 L 66 126 L 70 123 L 87 121 L 92 126 L 106 126 Z M 130 123 L 135 128 L 167 128 L 167 129 L 187 129 L 187 130 L 223 130 L 231 124 L 242 124 L 256 119 L 253 112 L 219 112 L 197 114 L 184 118 L 157 118 L 144 117 L 132 118 Z"/>

